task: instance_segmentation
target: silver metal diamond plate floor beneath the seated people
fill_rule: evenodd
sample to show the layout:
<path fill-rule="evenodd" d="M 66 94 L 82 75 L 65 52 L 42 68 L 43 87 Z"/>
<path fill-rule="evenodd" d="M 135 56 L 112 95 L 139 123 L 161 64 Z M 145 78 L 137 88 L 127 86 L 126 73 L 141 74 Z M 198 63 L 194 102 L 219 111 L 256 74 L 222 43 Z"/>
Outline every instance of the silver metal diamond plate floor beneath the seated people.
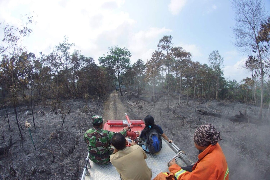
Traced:
<path fill-rule="evenodd" d="M 152 179 L 156 177 L 159 172 L 169 172 L 167 163 L 176 155 L 165 141 L 162 141 L 162 149 L 160 152 L 156 154 L 146 153 L 146 163 L 148 167 L 152 169 Z M 88 168 L 90 174 L 85 177 L 86 180 L 120 180 L 120 175 L 112 164 L 98 165 L 91 160 L 90 164 L 91 168 Z"/>

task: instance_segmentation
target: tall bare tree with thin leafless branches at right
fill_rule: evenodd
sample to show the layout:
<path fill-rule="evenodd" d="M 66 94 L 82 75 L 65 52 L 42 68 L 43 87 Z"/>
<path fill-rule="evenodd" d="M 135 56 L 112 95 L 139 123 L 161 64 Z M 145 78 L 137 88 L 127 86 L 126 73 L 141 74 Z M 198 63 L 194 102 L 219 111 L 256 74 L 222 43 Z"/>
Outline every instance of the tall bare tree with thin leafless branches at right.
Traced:
<path fill-rule="evenodd" d="M 264 61 L 262 56 L 262 44 L 258 39 L 260 25 L 265 21 L 265 11 L 262 0 L 233 0 L 232 6 L 235 10 L 236 26 L 233 28 L 236 43 L 242 52 L 248 55 L 256 55 L 259 67 L 256 69 L 261 77 L 261 107 L 259 119 L 262 119 L 263 106 L 263 79 L 264 79 Z M 250 67 L 247 67 L 251 69 Z M 254 69 L 251 69 L 254 70 Z"/>

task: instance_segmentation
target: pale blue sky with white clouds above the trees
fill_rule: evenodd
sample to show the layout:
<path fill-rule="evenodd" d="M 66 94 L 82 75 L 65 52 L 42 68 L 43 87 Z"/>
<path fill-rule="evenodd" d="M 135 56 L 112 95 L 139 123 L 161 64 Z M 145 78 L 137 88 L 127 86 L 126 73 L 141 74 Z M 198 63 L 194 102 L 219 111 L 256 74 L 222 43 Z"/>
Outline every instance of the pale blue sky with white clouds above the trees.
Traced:
<path fill-rule="evenodd" d="M 263 3 L 270 9 L 269 0 Z M 171 35 L 173 46 L 183 47 L 201 64 L 209 65 L 210 53 L 218 50 L 226 80 L 240 83 L 251 77 L 244 68 L 247 54 L 234 46 L 236 22 L 229 0 L 0 0 L 0 22 L 21 26 L 25 14 L 34 23 L 22 43 L 36 56 L 49 54 L 67 36 L 73 49 L 96 64 L 115 45 L 131 52 L 131 64 L 146 63 L 159 39 Z"/>

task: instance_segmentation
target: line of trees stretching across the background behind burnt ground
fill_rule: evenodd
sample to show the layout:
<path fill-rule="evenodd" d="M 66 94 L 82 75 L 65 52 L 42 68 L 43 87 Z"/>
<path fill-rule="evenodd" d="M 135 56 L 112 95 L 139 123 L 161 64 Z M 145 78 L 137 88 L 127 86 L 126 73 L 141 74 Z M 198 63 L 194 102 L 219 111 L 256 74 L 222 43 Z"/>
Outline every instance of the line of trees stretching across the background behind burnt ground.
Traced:
<path fill-rule="evenodd" d="M 138 95 L 143 90 L 151 90 L 153 99 L 156 93 L 165 94 L 167 108 L 172 96 L 178 96 L 179 103 L 183 97 L 188 103 L 190 97 L 194 100 L 226 99 L 251 105 L 269 105 L 270 82 L 263 78 L 269 75 L 269 19 L 260 20 L 260 26 L 256 27 L 257 36 L 251 41 L 254 47 L 246 66 L 251 70 L 252 78 L 245 78 L 240 83 L 224 79 L 224 58 L 218 50 L 209 54 L 209 65 L 200 64 L 192 61 L 192 54 L 183 47 L 173 46 L 172 36 L 163 36 L 159 40 L 157 49 L 146 63 L 138 59 L 130 64 L 130 51 L 113 46 L 99 58 L 98 65 L 80 50 L 71 53 L 74 44 L 69 43 L 66 36 L 49 54 L 28 52 L 22 45 L 22 39 L 32 32 L 28 28 L 32 23 L 31 17 L 20 28 L 2 23 L 0 102 L 3 108 L 14 107 L 16 114 L 19 104 L 30 107 L 32 102 L 49 99 L 57 107 L 61 99 L 89 99 L 105 95 L 115 90 L 116 86 L 122 95 L 121 88 L 125 86 L 136 90 Z M 241 27 L 236 28 L 235 32 L 240 33 L 240 30 Z"/>

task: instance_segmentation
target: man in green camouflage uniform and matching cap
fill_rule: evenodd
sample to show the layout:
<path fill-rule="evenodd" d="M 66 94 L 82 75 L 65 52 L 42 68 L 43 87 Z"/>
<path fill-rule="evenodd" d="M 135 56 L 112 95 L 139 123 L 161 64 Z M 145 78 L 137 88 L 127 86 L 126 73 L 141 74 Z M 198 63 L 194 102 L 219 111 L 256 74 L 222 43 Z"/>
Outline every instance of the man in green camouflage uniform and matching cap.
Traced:
<path fill-rule="evenodd" d="M 110 155 L 114 149 L 111 146 L 112 136 L 116 132 L 102 129 L 102 116 L 92 117 L 93 128 L 84 133 L 84 141 L 86 141 L 89 150 L 89 158 L 91 161 L 99 164 L 108 164 Z M 124 136 L 127 134 L 128 127 L 124 127 L 120 133 Z"/>

